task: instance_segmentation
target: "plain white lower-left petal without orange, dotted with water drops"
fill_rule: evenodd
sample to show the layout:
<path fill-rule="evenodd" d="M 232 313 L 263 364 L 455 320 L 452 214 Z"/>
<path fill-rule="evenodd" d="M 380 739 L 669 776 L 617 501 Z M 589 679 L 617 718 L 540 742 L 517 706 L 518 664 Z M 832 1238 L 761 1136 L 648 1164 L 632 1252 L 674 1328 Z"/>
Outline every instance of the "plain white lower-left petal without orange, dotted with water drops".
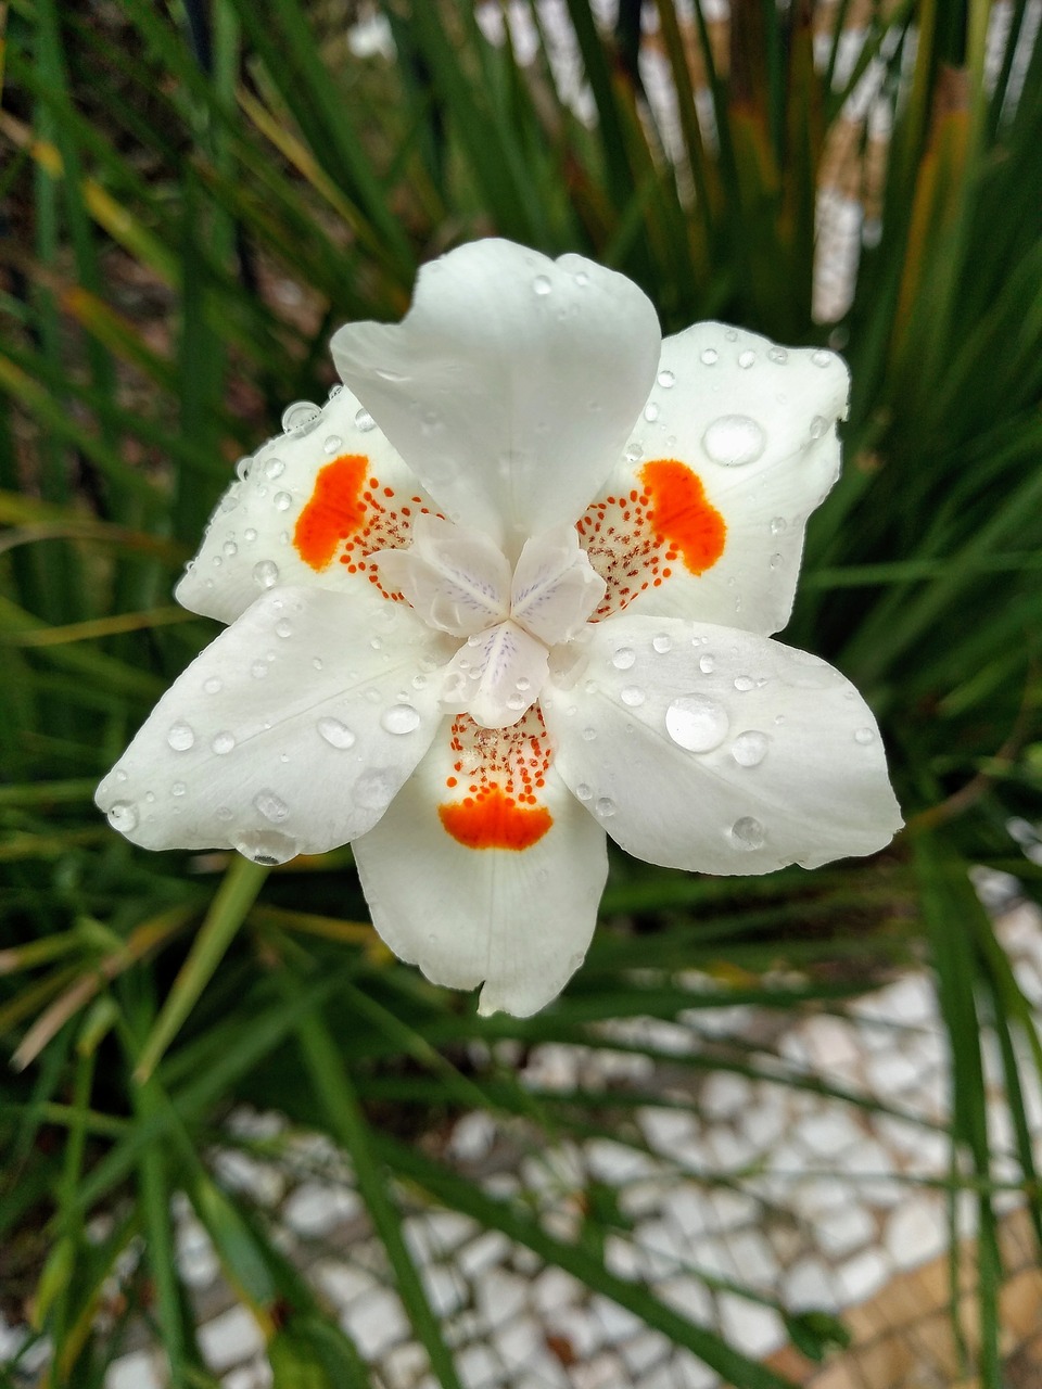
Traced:
<path fill-rule="evenodd" d="M 265 594 L 163 696 L 97 804 L 146 849 L 282 861 L 342 845 L 427 751 L 445 640 L 375 593 Z"/>

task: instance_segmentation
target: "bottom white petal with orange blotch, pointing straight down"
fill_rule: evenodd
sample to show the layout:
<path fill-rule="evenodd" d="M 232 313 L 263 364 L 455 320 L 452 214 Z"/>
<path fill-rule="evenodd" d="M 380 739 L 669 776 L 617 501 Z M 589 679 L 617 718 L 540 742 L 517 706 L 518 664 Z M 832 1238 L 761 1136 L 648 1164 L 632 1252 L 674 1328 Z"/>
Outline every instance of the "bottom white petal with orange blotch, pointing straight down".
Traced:
<path fill-rule="evenodd" d="M 457 720 L 354 843 L 381 936 L 435 983 L 485 981 L 482 1013 L 542 1008 L 582 964 L 596 924 L 604 833 L 549 758 L 534 713 L 496 733 Z"/>

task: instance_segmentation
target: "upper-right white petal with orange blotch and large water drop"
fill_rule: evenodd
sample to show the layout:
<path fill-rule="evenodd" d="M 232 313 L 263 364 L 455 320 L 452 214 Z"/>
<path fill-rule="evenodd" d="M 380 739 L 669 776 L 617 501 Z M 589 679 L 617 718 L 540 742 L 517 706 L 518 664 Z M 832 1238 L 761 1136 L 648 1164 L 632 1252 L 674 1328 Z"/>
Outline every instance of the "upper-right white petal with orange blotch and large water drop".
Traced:
<path fill-rule="evenodd" d="M 688 617 L 768 635 L 789 619 L 807 517 L 839 475 L 847 371 L 835 353 L 696 324 L 579 521 L 602 615 Z"/>

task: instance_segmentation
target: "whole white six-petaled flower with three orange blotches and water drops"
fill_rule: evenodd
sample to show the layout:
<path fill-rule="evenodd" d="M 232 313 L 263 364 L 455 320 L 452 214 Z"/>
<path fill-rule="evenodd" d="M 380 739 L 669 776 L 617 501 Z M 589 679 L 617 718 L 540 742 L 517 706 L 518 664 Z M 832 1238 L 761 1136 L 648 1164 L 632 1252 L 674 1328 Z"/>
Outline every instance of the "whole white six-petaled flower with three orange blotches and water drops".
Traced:
<path fill-rule="evenodd" d="M 582 963 L 606 832 L 713 874 L 900 825 L 853 686 L 770 640 L 836 479 L 847 374 L 483 240 L 240 467 L 176 597 L 228 624 L 99 788 L 149 849 L 352 842 L 386 943 L 481 1008 Z"/>

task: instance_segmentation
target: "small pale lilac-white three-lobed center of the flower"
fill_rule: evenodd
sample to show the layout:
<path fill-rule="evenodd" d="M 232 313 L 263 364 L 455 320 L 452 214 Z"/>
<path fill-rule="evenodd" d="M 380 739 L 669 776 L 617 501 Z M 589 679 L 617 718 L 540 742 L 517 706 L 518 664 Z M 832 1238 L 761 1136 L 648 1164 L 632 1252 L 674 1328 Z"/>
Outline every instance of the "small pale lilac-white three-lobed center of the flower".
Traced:
<path fill-rule="evenodd" d="M 488 536 L 420 515 L 406 550 L 371 556 L 388 592 L 400 592 L 429 626 L 465 638 L 445 668 L 442 703 L 481 728 L 517 724 L 539 697 L 550 649 L 571 642 L 606 585 L 574 526 L 534 536 L 513 574 Z"/>

